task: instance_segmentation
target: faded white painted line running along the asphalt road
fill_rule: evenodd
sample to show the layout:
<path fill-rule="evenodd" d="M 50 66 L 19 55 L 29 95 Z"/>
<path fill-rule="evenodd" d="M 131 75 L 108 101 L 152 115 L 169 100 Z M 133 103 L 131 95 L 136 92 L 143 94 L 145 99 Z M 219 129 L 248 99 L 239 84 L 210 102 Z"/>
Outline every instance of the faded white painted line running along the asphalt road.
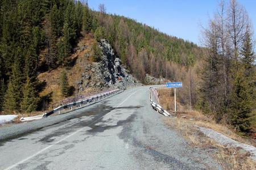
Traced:
<path fill-rule="evenodd" d="M 137 91 L 138 91 L 138 90 L 137 90 Z M 137 91 L 135 91 L 135 92 L 137 92 Z M 133 92 L 133 94 L 131 94 L 130 96 L 126 97 L 126 99 L 123 100 L 120 104 L 118 104 L 115 108 L 117 108 L 117 107 L 119 107 L 120 105 L 122 105 L 123 103 L 125 103 L 126 100 L 128 100 L 132 95 L 135 94 L 135 92 Z M 115 110 L 115 109 L 114 109 L 114 110 Z M 110 111 L 109 113 L 112 113 L 114 110 Z M 106 115 L 109 114 L 109 113 L 106 113 L 105 115 L 103 115 L 103 116 L 97 118 L 97 120 L 93 121 L 93 122 L 90 123 L 88 126 L 94 124 L 94 122 L 97 122 L 98 120 L 100 120 L 102 117 L 106 116 Z M 85 127 L 88 127 L 88 126 L 85 126 Z M 79 131 L 81 131 L 82 129 L 84 129 L 85 127 L 80 128 L 79 130 L 75 131 L 74 133 L 68 135 L 67 137 L 61 139 L 60 141 L 57 141 L 57 142 L 53 143 L 52 145 L 47 146 L 46 148 L 43 148 L 42 150 L 36 152 L 35 154 L 33 154 L 33 155 L 31 155 L 31 156 L 28 156 L 26 159 L 23 159 L 23 160 L 21 160 L 20 162 L 15 163 L 14 165 L 11 165 L 10 167 L 6 168 L 5 170 L 9 170 L 9 169 L 15 168 L 15 167 L 18 166 L 19 164 L 22 164 L 22 163 L 26 162 L 27 160 L 29 160 L 29 159 L 31 159 L 31 158 L 33 158 L 33 157 L 35 157 L 35 156 L 41 154 L 43 151 L 48 150 L 48 148 L 51 148 L 52 146 L 54 146 L 54 145 L 56 145 L 56 144 L 58 144 L 58 143 L 64 141 L 65 139 L 67 139 L 67 138 L 69 138 L 69 137 L 72 137 L 73 135 L 75 135 L 76 133 L 78 133 Z"/>

